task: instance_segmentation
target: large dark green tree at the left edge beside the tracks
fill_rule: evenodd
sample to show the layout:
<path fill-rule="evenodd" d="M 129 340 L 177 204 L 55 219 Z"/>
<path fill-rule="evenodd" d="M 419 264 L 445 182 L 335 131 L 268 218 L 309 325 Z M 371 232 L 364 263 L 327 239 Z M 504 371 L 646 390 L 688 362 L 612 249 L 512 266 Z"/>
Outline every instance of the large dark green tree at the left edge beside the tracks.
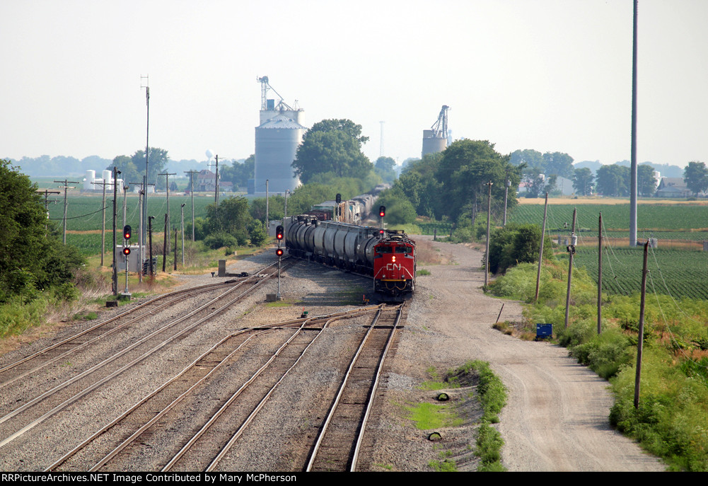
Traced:
<path fill-rule="evenodd" d="M 42 197 L 25 174 L 0 160 L 0 303 L 69 283 L 84 259 L 49 226 Z"/>

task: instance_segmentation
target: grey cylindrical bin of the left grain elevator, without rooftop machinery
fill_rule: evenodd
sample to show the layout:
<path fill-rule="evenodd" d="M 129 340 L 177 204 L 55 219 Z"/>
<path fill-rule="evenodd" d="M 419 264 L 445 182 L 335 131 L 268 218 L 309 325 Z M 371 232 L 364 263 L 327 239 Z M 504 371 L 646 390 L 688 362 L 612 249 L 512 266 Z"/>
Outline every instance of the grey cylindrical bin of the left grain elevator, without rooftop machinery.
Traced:
<path fill-rule="evenodd" d="M 265 193 L 266 179 L 271 194 L 297 188 L 299 179 L 293 174 L 291 164 L 305 130 L 304 126 L 283 113 L 256 127 L 254 192 Z"/>

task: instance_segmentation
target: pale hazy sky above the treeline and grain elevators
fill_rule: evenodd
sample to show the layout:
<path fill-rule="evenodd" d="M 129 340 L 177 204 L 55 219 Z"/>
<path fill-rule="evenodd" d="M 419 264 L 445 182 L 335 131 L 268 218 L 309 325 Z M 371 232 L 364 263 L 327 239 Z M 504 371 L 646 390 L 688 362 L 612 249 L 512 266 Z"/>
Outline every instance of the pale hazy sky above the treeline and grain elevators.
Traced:
<path fill-rule="evenodd" d="M 261 86 L 364 152 L 452 136 L 630 157 L 632 0 L 0 1 L 0 157 L 253 153 Z M 639 0 L 639 162 L 708 162 L 708 1 Z M 272 94 L 272 92 L 271 92 Z"/>

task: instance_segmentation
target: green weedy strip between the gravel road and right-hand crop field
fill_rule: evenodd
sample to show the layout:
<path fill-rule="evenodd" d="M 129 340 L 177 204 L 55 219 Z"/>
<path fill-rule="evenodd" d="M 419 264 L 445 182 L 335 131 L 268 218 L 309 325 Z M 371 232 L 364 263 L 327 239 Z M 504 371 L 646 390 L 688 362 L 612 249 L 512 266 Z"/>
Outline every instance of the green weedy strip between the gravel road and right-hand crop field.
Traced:
<path fill-rule="evenodd" d="M 569 327 L 564 327 L 563 264 L 542 269 L 539 302 L 525 309 L 527 326 L 554 324 L 556 341 L 571 356 L 609 380 L 615 393 L 610 424 L 663 458 L 672 470 L 708 471 L 708 300 L 646 296 L 639 407 L 634 407 L 639 294 L 603 295 L 597 332 L 597 290 L 583 269 L 573 270 Z M 641 271 L 641 267 L 639 268 Z M 536 266 L 520 265 L 498 279 L 498 295 L 527 298 Z M 656 275 L 653 276 L 656 280 Z"/>

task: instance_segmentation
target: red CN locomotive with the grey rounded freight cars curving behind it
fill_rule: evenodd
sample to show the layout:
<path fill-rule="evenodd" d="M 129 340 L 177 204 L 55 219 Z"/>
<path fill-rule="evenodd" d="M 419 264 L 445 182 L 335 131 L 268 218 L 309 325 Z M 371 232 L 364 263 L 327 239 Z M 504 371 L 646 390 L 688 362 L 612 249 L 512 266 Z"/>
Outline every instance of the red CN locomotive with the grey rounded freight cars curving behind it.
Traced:
<path fill-rule="evenodd" d="M 380 300 L 405 300 L 416 288 L 416 242 L 404 232 L 299 215 L 285 218 L 285 244 L 299 258 L 372 276 Z"/>

